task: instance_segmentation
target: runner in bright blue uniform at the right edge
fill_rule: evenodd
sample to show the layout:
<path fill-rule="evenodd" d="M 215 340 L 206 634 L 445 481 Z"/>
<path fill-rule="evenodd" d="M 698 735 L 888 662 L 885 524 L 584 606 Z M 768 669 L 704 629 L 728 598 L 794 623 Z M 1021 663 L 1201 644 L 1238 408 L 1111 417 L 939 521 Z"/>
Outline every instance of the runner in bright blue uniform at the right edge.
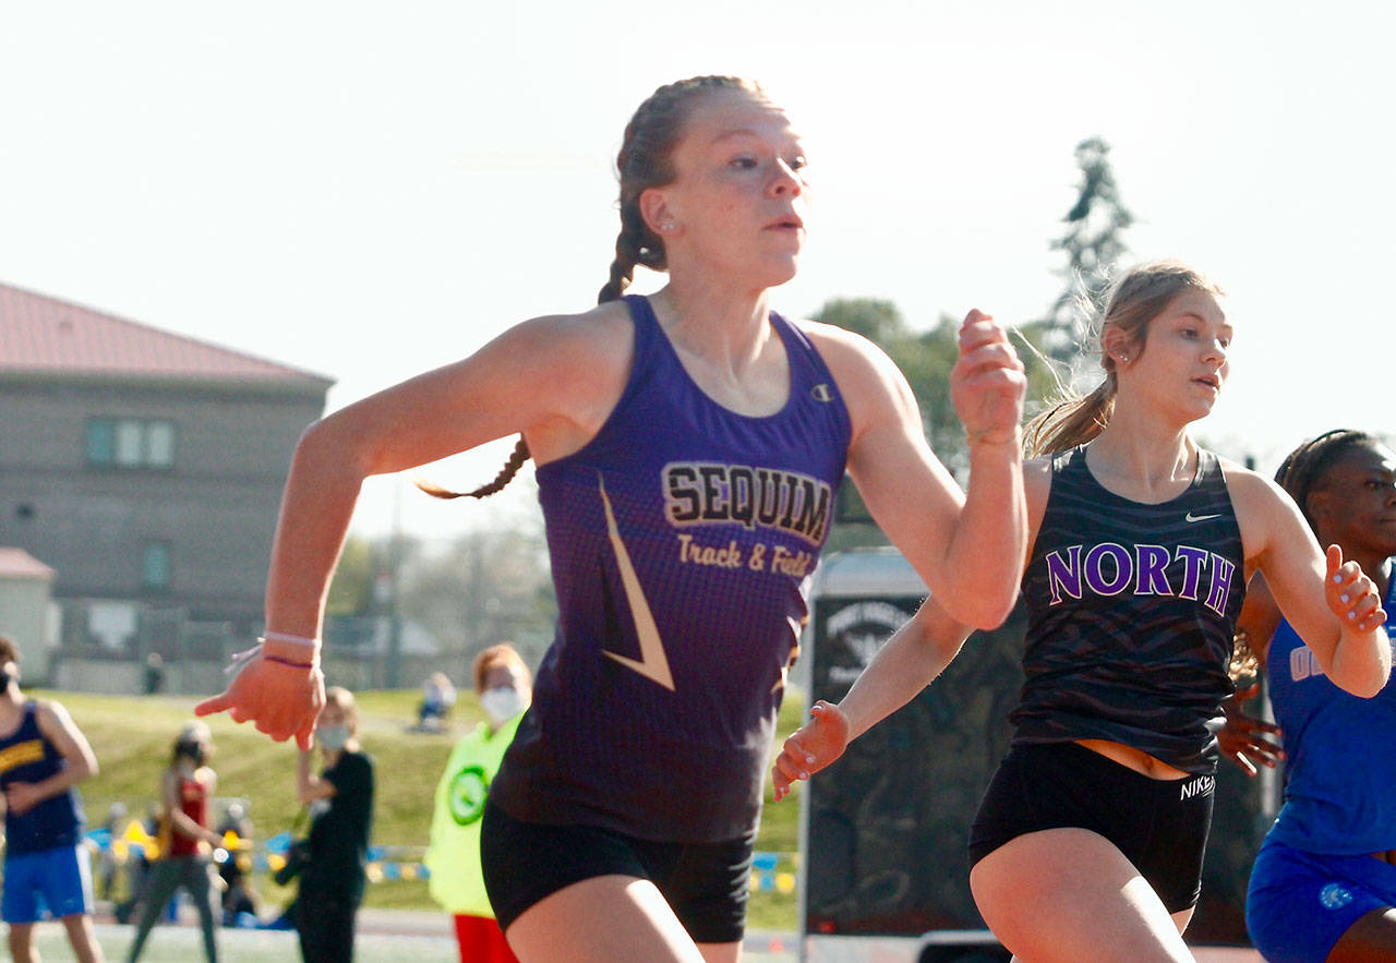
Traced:
<path fill-rule="evenodd" d="M 1361 431 L 1329 431 L 1294 449 L 1276 480 L 1322 544 L 1372 574 L 1396 631 L 1396 452 Z M 1251 872 L 1251 939 L 1270 963 L 1393 960 L 1396 682 L 1371 699 L 1344 692 L 1265 579 L 1249 588 L 1241 628 L 1265 667 L 1286 756 L 1284 807 Z"/>

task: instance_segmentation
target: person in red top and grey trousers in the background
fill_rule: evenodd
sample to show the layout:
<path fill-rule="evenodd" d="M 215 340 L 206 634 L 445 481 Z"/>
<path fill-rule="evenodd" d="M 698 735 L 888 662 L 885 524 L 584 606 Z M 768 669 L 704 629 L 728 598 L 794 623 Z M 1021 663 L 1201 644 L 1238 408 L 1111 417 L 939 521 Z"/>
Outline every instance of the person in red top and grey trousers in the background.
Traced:
<path fill-rule="evenodd" d="M 180 730 L 170 752 L 170 763 L 161 777 L 159 856 L 141 892 L 141 917 L 127 960 L 141 956 L 151 928 L 169 906 L 170 897 L 184 888 L 198 909 L 204 930 L 204 955 L 218 960 L 214 920 L 214 885 L 208 856 L 223 844 L 223 837 L 209 829 L 208 800 L 218 777 L 208 766 L 214 737 L 208 726 L 191 722 Z"/>

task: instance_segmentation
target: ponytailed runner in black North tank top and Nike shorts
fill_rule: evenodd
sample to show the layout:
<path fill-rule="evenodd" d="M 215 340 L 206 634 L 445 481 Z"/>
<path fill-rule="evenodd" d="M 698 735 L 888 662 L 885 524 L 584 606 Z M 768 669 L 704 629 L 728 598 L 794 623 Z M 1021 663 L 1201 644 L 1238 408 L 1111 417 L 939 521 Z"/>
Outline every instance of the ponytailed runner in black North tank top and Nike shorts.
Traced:
<path fill-rule="evenodd" d="M 1202 722 L 1230 691 L 1230 629 L 1254 571 L 1336 684 L 1369 696 L 1390 671 L 1372 582 L 1336 546 L 1325 561 L 1277 486 L 1188 435 L 1227 375 L 1220 294 L 1177 262 L 1129 271 L 1101 324 L 1106 380 L 1027 433 L 1047 455 L 1025 468 L 1027 682 L 970 872 L 984 920 L 1023 960 L 1192 959 L 1181 932 L 1216 759 Z M 787 740 L 776 798 L 910 701 L 965 636 L 927 602 Z"/>

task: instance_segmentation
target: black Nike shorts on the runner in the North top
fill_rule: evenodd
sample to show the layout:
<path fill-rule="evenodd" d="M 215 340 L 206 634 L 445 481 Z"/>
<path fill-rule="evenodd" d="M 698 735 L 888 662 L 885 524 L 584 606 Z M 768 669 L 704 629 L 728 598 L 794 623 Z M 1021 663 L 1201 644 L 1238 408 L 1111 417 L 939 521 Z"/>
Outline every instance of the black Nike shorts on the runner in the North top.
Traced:
<path fill-rule="evenodd" d="M 969 863 L 1018 836 L 1074 826 L 1134 863 L 1168 913 L 1196 906 L 1216 776 L 1150 779 L 1076 742 L 1015 745 L 984 791 Z"/>

